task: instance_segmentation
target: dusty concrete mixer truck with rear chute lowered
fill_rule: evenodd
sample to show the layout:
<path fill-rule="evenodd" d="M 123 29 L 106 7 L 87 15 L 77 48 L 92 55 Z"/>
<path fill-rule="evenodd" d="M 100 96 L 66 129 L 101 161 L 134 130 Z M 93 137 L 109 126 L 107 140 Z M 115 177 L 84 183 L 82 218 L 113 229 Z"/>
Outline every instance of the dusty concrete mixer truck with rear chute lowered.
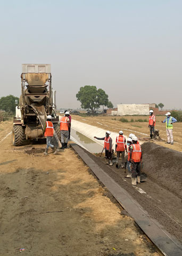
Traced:
<path fill-rule="evenodd" d="M 13 120 L 13 146 L 23 145 L 24 140 L 44 138 L 43 128 L 47 115 L 57 137 L 60 138 L 59 116 L 56 116 L 56 92 L 51 84 L 51 65 L 22 64 L 21 95 Z"/>

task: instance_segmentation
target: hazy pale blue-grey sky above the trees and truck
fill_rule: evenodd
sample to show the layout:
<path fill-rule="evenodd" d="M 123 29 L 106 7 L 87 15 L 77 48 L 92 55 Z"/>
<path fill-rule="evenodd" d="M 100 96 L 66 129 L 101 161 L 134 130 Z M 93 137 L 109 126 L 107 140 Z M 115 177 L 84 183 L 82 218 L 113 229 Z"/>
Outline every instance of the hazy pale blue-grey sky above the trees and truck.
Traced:
<path fill-rule="evenodd" d="M 182 1 L 1 1 L 0 97 L 21 94 L 21 64 L 49 63 L 57 108 L 94 85 L 119 103 L 181 108 Z"/>

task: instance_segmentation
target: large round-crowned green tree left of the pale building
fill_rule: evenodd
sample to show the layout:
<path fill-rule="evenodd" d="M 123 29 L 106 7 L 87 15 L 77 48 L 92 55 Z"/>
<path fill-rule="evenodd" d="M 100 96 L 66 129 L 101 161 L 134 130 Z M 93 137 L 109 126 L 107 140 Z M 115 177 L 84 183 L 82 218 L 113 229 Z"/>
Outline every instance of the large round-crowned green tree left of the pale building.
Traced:
<path fill-rule="evenodd" d="M 109 104 L 108 95 L 102 89 L 97 90 L 96 86 L 85 85 L 80 87 L 76 97 L 81 102 L 81 108 L 90 109 L 92 113 L 96 108 Z"/>

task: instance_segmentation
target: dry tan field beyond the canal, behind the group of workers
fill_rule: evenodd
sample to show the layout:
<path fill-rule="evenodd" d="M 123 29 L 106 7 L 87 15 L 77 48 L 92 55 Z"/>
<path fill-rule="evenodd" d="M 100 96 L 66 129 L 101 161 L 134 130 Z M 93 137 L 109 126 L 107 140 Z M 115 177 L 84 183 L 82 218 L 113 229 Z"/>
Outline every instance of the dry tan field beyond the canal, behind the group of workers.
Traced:
<path fill-rule="evenodd" d="M 129 133 L 134 133 L 139 139 L 140 138 L 147 138 L 150 137 L 150 131 L 148 128 L 148 122 L 129 122 L 129 123 L 122 123 L 119 121 L 121 116 L 78 116 L 72 115 L 72 118 L 80 121 L 82 123 L 87 123 L 90 125 L 94 125 L 100 127 L 105 130 L 110 130 L 112 132 L 119 132 L 123 130 L 124 135 L 127 136 Z M 148 116 L 124 116 L 124 118 L 130 121 L 132 118 L 135 120 L 137 119 L 147 119 Z M 161 121 L 165 119 L 165 116 L 156 116 L 156 126 L 155 129 L 158 129 L 162 139 L 165 141 L 167 140 L 166 135 L 166 124 L 162 124 Z M 173 138 L 174 138 L 174 145 L 165 144 L 165 141 L 155 141 L 156 144 L 161 145 L 163 147 L 167 147 L 170 149 L 175 149 L 178 151 L 182 151 L 182 123 L 175 123 L 173 125 Z M 144 135 L 141 133 L 148 134 Z M 112 137 L 112 134 L 111 134 Z"/>

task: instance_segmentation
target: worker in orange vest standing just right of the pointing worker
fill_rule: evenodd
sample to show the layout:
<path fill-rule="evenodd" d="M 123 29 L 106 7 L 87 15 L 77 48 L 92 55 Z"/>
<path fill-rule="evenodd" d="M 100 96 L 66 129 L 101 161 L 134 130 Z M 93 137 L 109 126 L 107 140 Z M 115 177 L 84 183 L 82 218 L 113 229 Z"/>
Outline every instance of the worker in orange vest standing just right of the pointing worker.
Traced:
<path fill-rule="evenodd" d="M 119 158 L 121 154 L 121 168 L 125 167 L 125 150 L 127 152 L 126 138 L 123 136 L 123 131 L 119 131 L 119 136 L 115 141 L 115 153 L 117 153 L 117 161 L 115 167 L 118 168 Z"/>

